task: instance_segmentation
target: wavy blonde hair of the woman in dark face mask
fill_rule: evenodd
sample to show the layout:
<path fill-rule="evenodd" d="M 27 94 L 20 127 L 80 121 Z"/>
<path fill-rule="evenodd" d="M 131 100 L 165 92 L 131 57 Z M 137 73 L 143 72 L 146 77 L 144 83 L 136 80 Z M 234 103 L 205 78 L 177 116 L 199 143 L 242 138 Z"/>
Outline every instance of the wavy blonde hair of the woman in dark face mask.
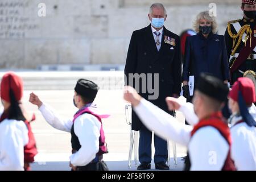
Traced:
<path fill-rule="evenodd" d="M 196 16 L 196 20 L 193 23 L 193 28 L 194 28 L 195 32 L 197 32 L 197 33 L 200 32 L 199 26 L 200 26 L 201 19 L 206 19 L 209 22 L 212 22 L 212 32 L 213 32 L 213 34 L 216 34 L 216 32 L 218 31 L 218 24 L 216 22 L 216 18 L 214 16 L 211 17 L 209 15 L 209 11 L 203 11 Z"/>

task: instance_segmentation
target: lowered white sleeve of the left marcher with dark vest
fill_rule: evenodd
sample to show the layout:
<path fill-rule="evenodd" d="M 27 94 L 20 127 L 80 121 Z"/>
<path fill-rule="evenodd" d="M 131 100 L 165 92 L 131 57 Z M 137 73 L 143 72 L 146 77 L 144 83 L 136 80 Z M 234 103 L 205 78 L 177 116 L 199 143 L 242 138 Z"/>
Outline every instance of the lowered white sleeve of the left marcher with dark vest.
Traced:
<path fill-rule="evenodd" d="M 81 148 L 69 159 L 73 166 L 86 166 L 99 151 L 101 123 L 92 114 L 82 114 L 74 122 L 74 131 Z"/>

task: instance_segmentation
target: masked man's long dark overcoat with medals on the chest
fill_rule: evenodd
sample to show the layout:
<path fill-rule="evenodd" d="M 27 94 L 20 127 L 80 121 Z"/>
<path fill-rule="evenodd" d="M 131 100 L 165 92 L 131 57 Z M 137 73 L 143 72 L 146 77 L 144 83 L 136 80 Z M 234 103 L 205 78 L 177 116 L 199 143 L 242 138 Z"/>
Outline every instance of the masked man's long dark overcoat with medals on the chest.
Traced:
<path fill-rule="evenodd" d="M 175 39 L 175 46 L 165 43 L 164 36 Z M 156 100 L 149 100 L 161 109 L 168 111 L 165 98 L 172 94 L 180 94 L 181 89 L 181 52 L 180 38 L 178 35 L 163 28 L 161 48 L 158 52 L 151 30 L 151 24 L 141 30 L 133 32 L 131 36 L 130 46 L 127 53 L 125 75 L 126 85 L 129 85 L 129 73 L 158 73 L 159 74 L 159 97 Z M 154 79 L 153 79 L 154 80 Z M 147 81 L 148 77 L 147 77 Z M 140 88 L 144 82 L 140 81 Z M 154 81 L 151 84 L 154 86 Z M 135 86 L 130 84 L 130 86 Z M 135 87 L 134 87 L 135 88 Z M 157 89 L 157 88 L 154 88 Z M 139 94 L 148 100 L 150 92 Z M 143 127 L 140 119 L 133 112 L 132 128 L 133 130 L 141 130 Z"/>

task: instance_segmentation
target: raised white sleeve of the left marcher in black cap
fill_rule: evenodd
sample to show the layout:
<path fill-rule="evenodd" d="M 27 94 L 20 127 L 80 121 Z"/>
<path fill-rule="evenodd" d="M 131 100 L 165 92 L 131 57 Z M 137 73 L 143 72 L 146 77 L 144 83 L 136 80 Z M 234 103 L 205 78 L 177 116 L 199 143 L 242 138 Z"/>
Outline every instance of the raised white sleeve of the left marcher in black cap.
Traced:
<path fill-rule="evenodd" d="M 73 125 L 72 119 L 60 117 L 51 106 L 45 104 L 42 104 L 42 106 L 39 107 L 39 110 L 49 125 L 55 129 L 67 132 L 71 131 L 71 127 Z"/>

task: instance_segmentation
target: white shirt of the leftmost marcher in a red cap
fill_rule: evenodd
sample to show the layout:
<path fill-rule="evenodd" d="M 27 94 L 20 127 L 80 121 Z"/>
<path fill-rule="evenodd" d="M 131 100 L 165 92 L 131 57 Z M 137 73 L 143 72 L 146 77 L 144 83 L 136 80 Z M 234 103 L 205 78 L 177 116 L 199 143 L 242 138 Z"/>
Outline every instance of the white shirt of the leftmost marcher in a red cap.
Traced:
<path fill-rule="evenodd" d="M 28 130 L 23 121 L 4 119 L 0 123 L 0 171 L 24 171 L 27 143 Z"/>

